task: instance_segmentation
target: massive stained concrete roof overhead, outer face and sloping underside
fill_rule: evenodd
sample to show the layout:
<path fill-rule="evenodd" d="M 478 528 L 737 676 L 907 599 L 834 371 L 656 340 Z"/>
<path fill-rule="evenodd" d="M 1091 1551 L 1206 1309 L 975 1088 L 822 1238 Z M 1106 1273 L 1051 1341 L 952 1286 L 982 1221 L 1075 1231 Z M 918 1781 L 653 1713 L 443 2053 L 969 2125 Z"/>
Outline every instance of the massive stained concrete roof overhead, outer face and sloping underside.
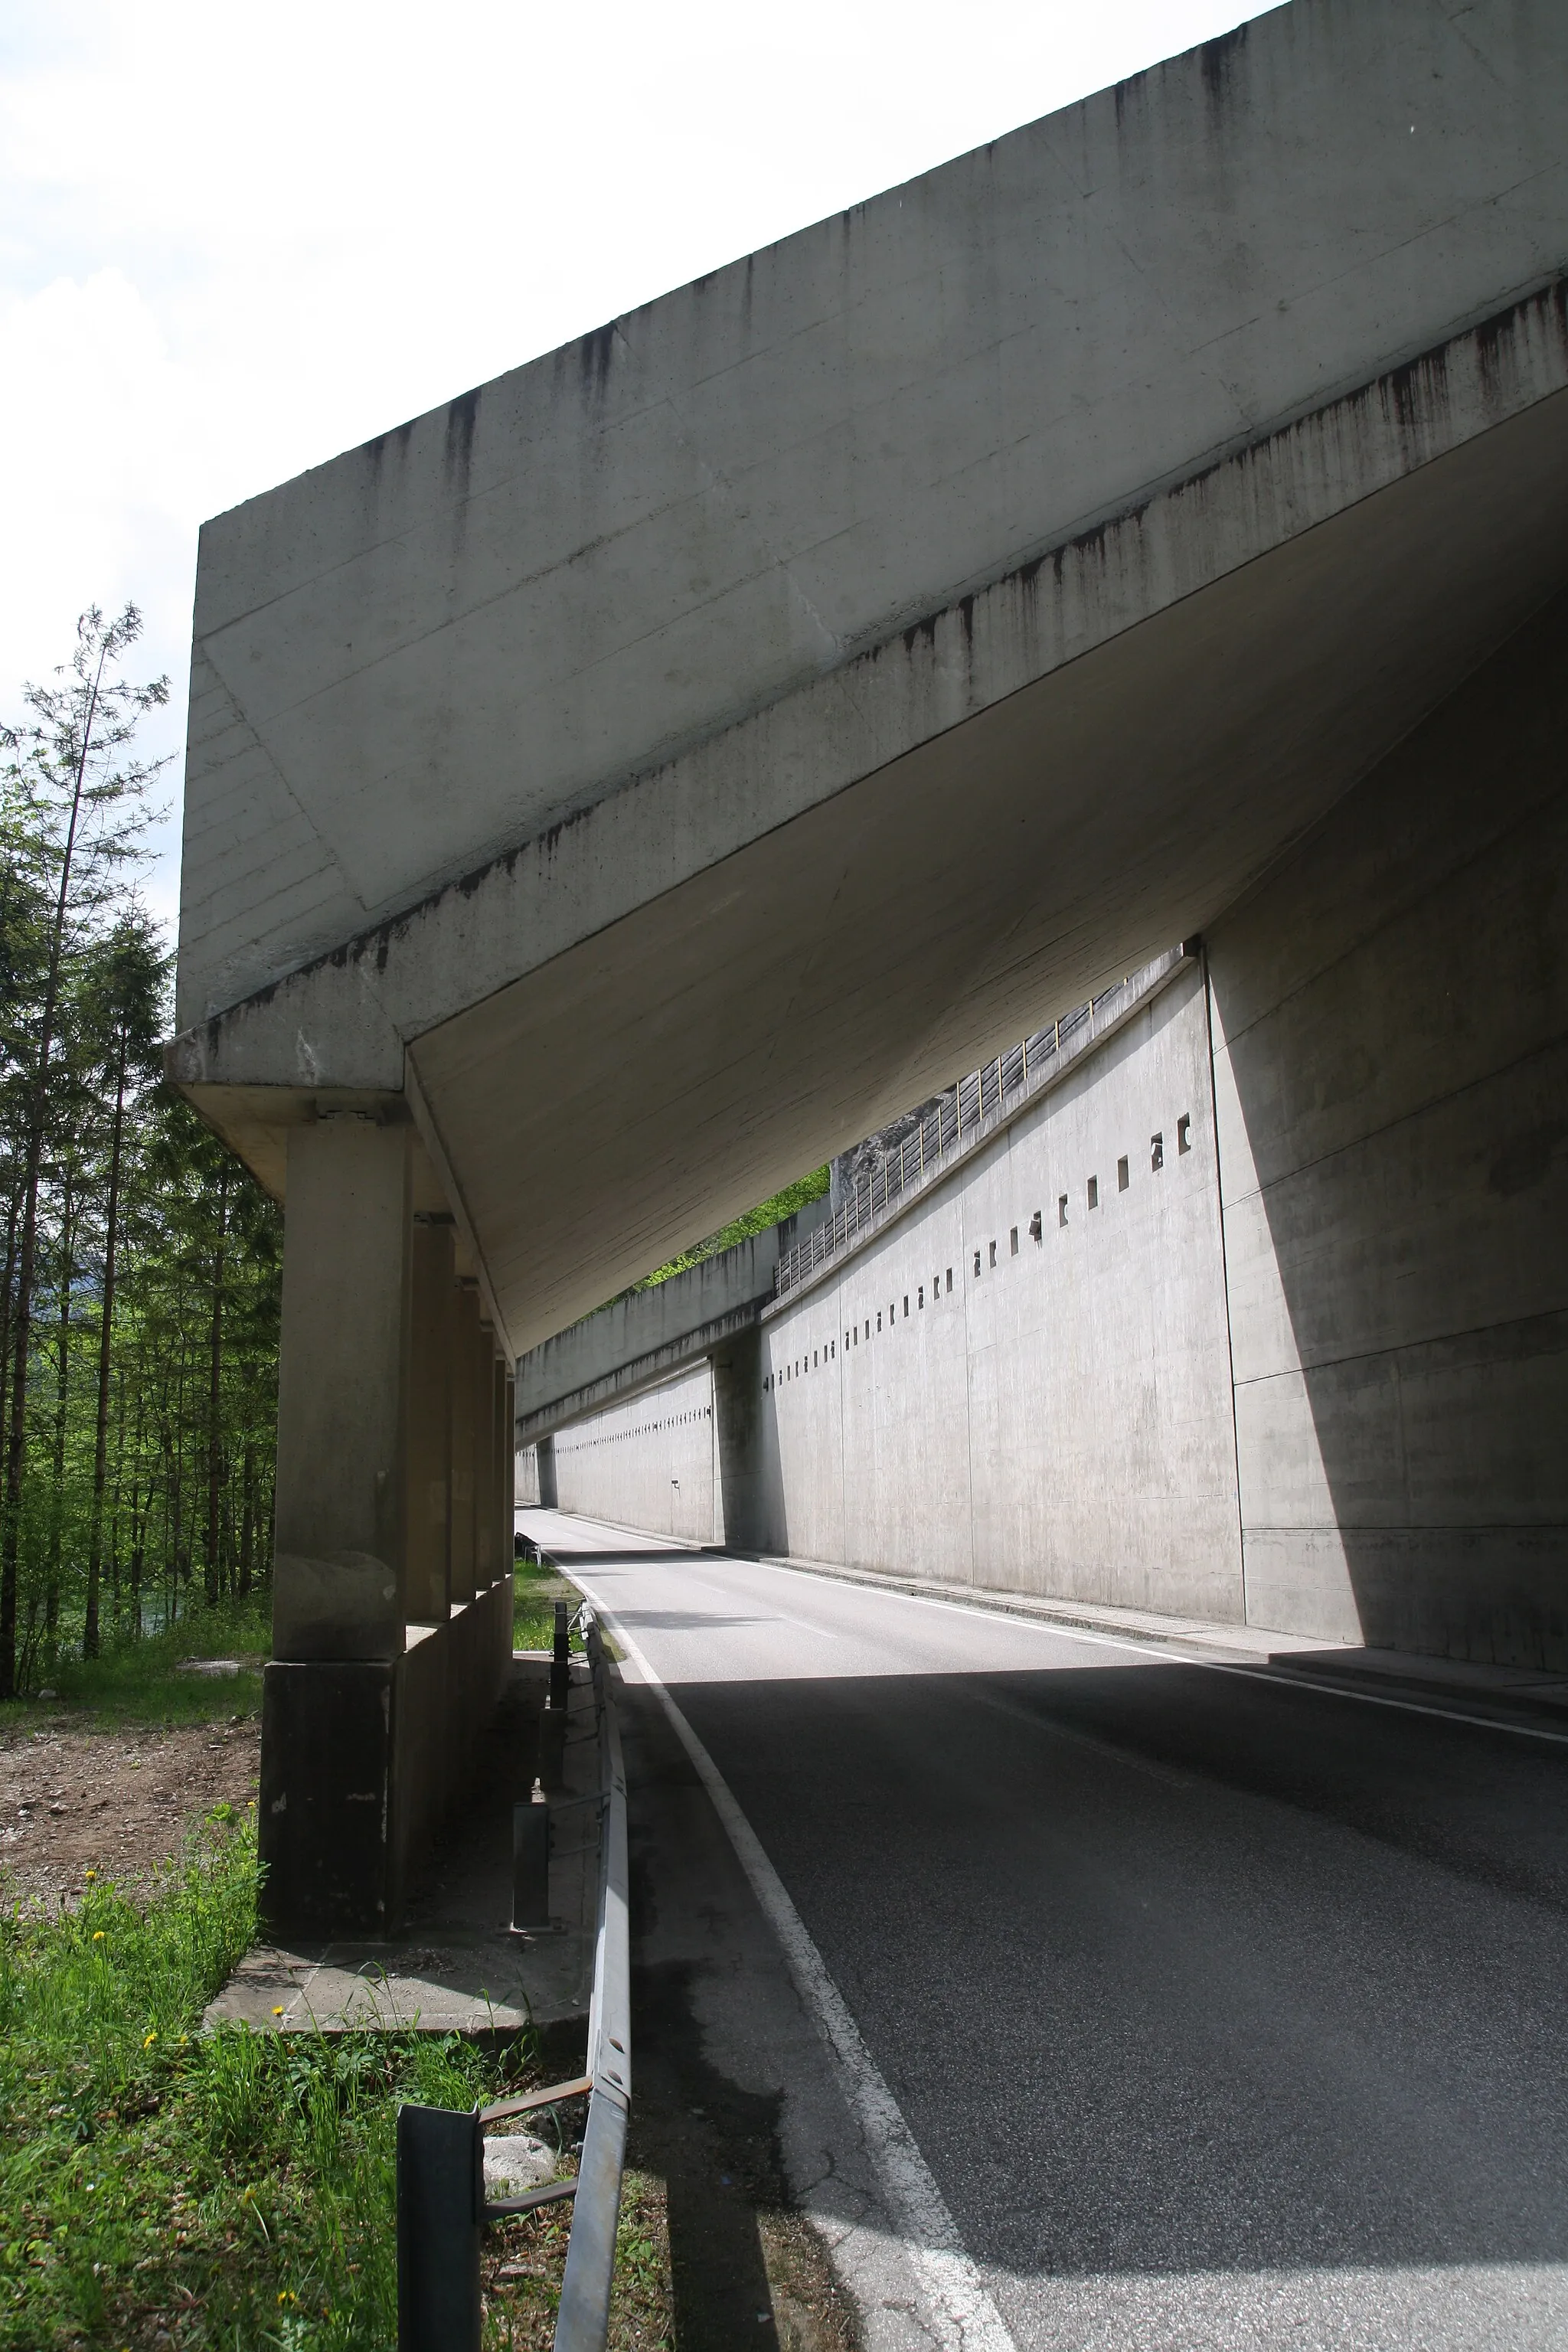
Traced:
<path fill-rule="evenodd" d="M 195 1101 L 522 1350 L 1201 929 L 1563 579 L 1566 47 L 1295 0 L 209 524 Z"/>

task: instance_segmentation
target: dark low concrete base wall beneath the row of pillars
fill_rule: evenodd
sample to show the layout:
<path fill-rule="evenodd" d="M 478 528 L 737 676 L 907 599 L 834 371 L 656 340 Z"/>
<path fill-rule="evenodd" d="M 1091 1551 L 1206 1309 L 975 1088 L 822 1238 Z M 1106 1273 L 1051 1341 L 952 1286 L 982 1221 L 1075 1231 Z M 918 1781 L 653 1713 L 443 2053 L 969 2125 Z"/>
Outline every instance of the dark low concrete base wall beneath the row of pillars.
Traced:
<path fill-rule="evenodd" d="M 409 1625 L 390 1661 L 287 1661 L 261 1682 L 261 1915 L 275 1936 L 388 1936 L 470 1780 L 512 1656 L 512 1578 Z"/>

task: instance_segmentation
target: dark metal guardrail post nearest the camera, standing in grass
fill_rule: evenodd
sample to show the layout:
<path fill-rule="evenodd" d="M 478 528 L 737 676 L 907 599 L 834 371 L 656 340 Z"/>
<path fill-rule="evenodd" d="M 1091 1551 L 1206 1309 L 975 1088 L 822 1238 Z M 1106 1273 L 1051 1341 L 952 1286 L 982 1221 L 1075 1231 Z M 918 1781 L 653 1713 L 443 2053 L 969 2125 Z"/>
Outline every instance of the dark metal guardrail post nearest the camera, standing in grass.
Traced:
<path fill-rule="evenodd" d="M 480 2352 L 480 2110 L 397 2110 L 397 2352 Z"/>

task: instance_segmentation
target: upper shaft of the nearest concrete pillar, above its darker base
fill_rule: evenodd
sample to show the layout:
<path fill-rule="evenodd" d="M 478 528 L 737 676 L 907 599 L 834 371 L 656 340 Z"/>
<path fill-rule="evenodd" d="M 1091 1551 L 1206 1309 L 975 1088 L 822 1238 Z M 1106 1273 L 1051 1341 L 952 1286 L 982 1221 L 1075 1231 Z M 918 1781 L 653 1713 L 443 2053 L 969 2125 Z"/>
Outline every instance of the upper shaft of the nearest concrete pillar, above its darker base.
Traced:
<path fill-rule="evenodd" d="M 409 1127 L 289 1134 L 275 1658 L 402 1651 Z"/>

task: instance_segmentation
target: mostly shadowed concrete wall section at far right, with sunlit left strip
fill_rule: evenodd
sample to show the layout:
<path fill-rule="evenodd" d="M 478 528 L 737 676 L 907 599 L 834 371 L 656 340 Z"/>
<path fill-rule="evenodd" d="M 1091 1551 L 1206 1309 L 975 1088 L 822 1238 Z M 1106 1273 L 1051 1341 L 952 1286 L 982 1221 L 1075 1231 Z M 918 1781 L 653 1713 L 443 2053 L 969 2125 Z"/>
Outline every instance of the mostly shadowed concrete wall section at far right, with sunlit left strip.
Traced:
<path fill-rule="evenodd" d="M 1568 602 L 1215 924 L 1248 1616 L 1568 1665 Z"/>

